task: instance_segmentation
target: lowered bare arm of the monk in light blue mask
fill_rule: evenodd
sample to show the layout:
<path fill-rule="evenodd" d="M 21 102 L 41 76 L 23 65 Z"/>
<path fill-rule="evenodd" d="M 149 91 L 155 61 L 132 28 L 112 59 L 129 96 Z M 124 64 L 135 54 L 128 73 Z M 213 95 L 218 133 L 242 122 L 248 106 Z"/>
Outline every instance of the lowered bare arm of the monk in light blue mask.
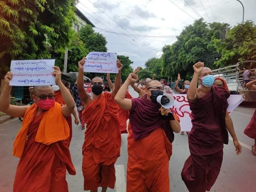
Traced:
<path fill-rule="evenodd" d="M 236 137 L 236 132 L 235 132 L 235 129 L 234 129 L 234 125 L 233 125 L 233 122 L 232 122 L 232 119 L 230 117 L 230 115 L 228 114 L 228 112 L 226 111 L 226 116 L 225 116 L 225 121 L 226 121 L 226 127 L 227 127 L 227 131 L 230 133 L 232 139 L 233 139 L 233 143 L 236 147 L 236 154 L 241 154 L 242 152 L 242 147 Z"/>

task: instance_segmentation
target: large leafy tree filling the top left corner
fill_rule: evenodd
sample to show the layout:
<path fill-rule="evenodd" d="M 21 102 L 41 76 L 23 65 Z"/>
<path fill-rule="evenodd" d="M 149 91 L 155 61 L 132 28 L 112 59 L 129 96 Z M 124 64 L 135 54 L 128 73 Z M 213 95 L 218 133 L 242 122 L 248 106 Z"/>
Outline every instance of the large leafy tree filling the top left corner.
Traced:
<path fill-rule="evenodd" d="M 50 58 L 64 51 L 76 0 L 0 0 L 0 73 L 12 59 Z"/>

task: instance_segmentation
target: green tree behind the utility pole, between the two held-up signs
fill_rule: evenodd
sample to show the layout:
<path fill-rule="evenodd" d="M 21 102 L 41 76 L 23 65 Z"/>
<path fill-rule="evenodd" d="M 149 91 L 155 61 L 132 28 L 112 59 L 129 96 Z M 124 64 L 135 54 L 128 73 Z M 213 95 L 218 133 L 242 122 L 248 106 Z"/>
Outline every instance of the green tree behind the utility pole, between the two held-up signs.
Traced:
<path fill-rule="evenodd" d="M 79 38 L 79 34 L 73 30 L 70 32 L 71 43 L 68 48 L 68 57 L 67 57 L 67 73 L 78 71 L 78 61 L 81 58 L 84 58 L 89 51 L 84 47 L 84 43 Z M 55 65 L 60 67 L 63 70 L 64 67 L 64 56 L 65 53 L 54 53 L 53 58 L 55 58 Z"/>

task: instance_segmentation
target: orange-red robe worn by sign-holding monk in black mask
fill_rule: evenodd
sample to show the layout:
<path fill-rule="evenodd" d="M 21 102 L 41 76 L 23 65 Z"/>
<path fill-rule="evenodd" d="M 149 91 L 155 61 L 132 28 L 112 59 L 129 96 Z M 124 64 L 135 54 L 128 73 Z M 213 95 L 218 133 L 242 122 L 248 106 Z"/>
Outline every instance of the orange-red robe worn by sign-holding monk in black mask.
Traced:
<path fill-rule="evenodd" d="M 102 93 L 83 111 L 86 131 L 82 147 L 84 190 L 114 188 L 114 163 L 120 156 L 121 133 L 118 105 L 110 93 Z"/>

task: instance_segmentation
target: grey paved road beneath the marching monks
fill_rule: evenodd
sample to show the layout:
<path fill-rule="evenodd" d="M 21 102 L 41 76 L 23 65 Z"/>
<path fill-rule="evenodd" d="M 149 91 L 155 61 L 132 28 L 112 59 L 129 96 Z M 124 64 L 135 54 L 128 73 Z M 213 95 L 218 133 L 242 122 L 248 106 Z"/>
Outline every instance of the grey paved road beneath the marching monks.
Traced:
<path fill-rule="evenodd" d="M 137 93 L 130 90 L 132 96 Z M 255 106 L 254 106 L 255 108 Z M 250 151 L 253 140 L 243 134 L 244 128 L 254 112 L 253 106 L 239 106 L 231 117 L 236 134 L 242 143 L 242 154 L 237 156 L 233 143 L 224 147 L 224 160 L 220 175 L 212 187 L 212 192 L 256 192 L 256 157 Z M 18 158 L 12 157 L 12 144 L 21 126 L 17 119 L 0 125 L 0 192 L 12 192 L 12 184 Z M 169 163 L 170 184 L 172 192 L 187 192 L 186 186 L 180 177 L 180 172 L 186 158 L 189 156 L 187 135 L 175 134 L 173 155 Z M 67 174 L 70 192 L 83 191 L 83 176 L 81 172 L 81 147 L 84 141 L 84 131 L 80 126 L 73 124 L 73 138 L 70 145 L 71 156 L 77 174 Z M 116 162 L 116 187 L 108 192 L 125 192 L 127 154 L 127 134 L 122 134 L 121 157 Z"/>

